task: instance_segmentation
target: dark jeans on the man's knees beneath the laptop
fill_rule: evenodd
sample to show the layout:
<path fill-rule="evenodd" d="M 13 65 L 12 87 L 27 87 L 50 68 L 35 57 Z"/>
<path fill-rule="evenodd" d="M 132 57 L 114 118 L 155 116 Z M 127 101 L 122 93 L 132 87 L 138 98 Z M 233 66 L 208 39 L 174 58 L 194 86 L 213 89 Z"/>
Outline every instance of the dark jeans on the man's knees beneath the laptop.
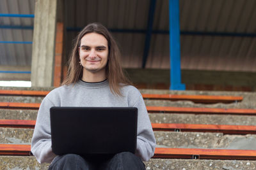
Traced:
<path fill-rule="evenodd" d="M 81 157 L 76 154 L 62 155 L 54 159 L 49 169 L 145 169 L 142 160 L 130 152 L 117 153 L 113 157 Z"/>

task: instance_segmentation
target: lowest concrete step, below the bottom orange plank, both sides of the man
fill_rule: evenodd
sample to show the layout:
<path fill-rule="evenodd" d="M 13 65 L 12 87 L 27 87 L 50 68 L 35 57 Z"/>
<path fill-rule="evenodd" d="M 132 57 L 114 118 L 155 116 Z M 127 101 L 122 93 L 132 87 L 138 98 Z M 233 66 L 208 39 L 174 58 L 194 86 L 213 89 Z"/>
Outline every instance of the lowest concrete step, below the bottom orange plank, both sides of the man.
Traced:
<path fill-rule="evenodd" d="M 195 159 L 150 159 L 144 162 L 147 170 L 154 169 L 244 169 L 256 168 L 254 160 L 195 160 Z M 0 156 L 0 169 L 47 169 L 49 164 L 38 164 L 35 157 Z"/>

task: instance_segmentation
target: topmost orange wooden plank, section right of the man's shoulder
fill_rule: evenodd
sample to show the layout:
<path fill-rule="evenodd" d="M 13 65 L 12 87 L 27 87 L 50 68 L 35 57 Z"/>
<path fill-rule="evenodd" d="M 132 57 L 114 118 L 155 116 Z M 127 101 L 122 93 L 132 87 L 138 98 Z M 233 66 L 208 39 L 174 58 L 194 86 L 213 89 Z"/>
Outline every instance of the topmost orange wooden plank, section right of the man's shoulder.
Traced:
<path fill-rule="evenodd" d="M 182 94 L 142 94 L 145 99 L 168 99 L 171 101 L 187 100 L 195 103 L 234 103 L 242 101 L 242 96 L 206 96 Z"/>

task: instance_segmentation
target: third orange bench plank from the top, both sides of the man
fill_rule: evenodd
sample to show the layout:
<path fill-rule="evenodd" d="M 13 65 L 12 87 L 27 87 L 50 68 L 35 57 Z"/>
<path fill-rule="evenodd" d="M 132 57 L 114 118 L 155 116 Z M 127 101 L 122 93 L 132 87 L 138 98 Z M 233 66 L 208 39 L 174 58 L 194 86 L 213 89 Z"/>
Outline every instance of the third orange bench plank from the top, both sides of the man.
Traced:
<path fill-rule="evenodd" d="M 36 120 L 1 119 L 0 127 L 31 128 Z M 256 134 L 254 125 L 152 124 L 154 131 L 222 132 L 223 134 Z"/>

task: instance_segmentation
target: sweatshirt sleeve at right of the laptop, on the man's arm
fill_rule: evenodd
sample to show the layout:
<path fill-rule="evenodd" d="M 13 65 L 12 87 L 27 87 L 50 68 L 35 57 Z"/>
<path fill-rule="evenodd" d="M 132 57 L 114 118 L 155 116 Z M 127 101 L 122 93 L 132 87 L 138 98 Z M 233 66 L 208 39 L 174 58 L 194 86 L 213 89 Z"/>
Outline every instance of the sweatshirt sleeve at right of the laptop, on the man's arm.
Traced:
<path fill-rule="evenodd" d="M 148 161 L 154 155 L 156 148 L 156 139 L 150 119 L 148 117 L 147 108 L 143 101 L 143 97 L 137 89 L 136 94 L 134 94 L 132 98 L 132 107 L 138 108 L 138 134 L 136 155 L 141 157 L 143 161 Z"/>

